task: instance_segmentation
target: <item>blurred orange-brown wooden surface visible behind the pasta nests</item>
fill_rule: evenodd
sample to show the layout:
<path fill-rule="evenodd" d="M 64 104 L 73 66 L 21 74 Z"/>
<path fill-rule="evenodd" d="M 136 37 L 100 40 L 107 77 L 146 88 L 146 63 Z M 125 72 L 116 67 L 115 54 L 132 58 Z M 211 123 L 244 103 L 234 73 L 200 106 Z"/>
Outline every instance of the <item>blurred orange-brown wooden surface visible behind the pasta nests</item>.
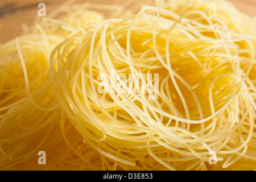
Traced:
<path fill-rule="evenodd" d="M 83 0 L 83 2 L 86 2 L 89 0 Z M 139 0 L 138 0 L 139 1 Z M 256 0 L 229 0 L 230 2 L 234 3 L 234 5 L 237 6 L 237 8 L 244 13 L 250 15 L 250 16 L 256 16 Z M 21 9 L 19 11 L 14 11 L 13 13 L 9 15 L 3 15 L 0 16 L 0 43 L 4 43 L 7 40 L 13 39 L 16 36 L 20 35 L 20 32 L 22 32 L 22 23 L 26 23 L 28 26 L 31 26 L 31 24 L 34 22 L 35 16 L 38 13 L 39 8 L 38 3 L 44 2 L 47 6 L 47 13 L 53 11 L 56 9 L 57 6 L 59 6 L 60 2 L 64 2 L 61 0 L 23 0 L 23 1 L 17 1 L 17 0 L 0 0 L 0 7 L 1 5 L 5 5 L 7 3 L 14 2 L 13 5 L 15 7 L 23 7 L 26 5 L 30 5 L 27 9 Z M 111 3 L 112 0 L 91 0 L 90 2 L 93 3 Z M 1 10 L 1 9 L 0 9 Z"/>

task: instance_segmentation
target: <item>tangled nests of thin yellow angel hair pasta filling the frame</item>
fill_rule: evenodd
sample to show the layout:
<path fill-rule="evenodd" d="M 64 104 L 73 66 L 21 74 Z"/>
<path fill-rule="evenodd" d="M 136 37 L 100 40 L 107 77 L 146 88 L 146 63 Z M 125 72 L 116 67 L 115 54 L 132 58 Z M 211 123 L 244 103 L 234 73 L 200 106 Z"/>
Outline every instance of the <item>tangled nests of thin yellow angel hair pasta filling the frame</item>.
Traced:
<path fill-rule="evenodd" d="M 90 22 L 68 12 L 3 44 L 0 169 L 255 169 L 256 23 L 211 2 L 75 6 Z"/>

